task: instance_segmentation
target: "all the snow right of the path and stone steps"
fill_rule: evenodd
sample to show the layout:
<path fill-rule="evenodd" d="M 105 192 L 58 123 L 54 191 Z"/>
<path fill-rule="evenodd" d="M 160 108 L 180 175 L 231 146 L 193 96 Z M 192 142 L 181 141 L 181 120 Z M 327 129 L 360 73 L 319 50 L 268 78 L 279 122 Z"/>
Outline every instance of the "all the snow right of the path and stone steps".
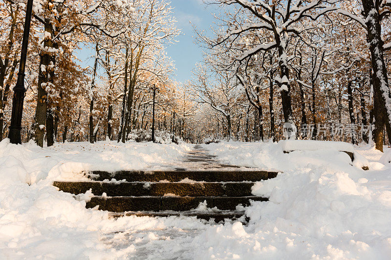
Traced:
<path fill-rule="evenodd" d="M 254 195 L 270 199 L 246 208 L 248 226 L 218 225 L 197 237 L 208 244 L 197 259 L 390 258 L 390 168 L 363 171 L 331 150 L 283 154 L 284 147 L 273 143 L 205 147 L 226 161 L 283 173 L 253 187 Z"/>

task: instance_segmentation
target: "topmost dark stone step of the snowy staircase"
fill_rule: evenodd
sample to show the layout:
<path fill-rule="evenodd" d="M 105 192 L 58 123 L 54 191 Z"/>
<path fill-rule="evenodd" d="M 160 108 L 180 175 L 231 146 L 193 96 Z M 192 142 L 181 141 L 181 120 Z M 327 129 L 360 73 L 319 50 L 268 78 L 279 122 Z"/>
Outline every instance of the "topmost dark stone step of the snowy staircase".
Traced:
<path fill-rule="evenodd" d="M 257 170 L 205 170 L 205 171 L 118 171 L 109 173 L 106 171 L 92 171 L 86 175 L 92 180 L 127 180 L 133 181 L 160 181 L 172 182 L 190 179 L 206 182 L 227 182 L 227 181 L 261 181 L 275 178 L 278 172 L 257 171 Z"/>

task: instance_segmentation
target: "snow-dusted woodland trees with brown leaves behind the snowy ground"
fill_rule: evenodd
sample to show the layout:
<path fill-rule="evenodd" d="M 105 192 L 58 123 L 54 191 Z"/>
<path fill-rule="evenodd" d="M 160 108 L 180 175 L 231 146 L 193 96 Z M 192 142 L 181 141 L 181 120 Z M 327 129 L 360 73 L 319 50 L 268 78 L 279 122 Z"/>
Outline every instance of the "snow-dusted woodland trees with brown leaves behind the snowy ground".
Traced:
<path fill-rule="evenodd" d="M 292 138 L 391 140 L 389 0 L 208 0 L 205 59 L 176 82 L 167 0 L 34 1 L 23 141 L 129 140 L 156 129 L 199 143 Z M 0 140 L 6 137 L 25 4 L 0 0 Z M 91 66 L 77 54 L 92 50 Z"/>

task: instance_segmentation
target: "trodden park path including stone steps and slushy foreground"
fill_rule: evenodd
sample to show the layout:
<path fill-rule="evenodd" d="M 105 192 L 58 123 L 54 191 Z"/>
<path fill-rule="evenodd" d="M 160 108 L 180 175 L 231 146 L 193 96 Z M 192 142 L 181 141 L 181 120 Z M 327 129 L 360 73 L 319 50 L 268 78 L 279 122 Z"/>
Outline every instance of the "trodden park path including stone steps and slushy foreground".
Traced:
<path fill-rule="evenodd" d="M 111 217 L 159 217 L 138 220 L 145 222 L 134 228 L 101 233 L 103 243 L 112 248 L 133 245 L 129 259 L 193 259 L 194 239 L 211 225 L 237 220 L 247 223 L 245 212 L 238 205 L 268 200 L 254 196 L 252 187 L 256 181 L 275 178 L 277 173 L 229 165 L 212 155 L 207 145 L 191 147 L 177 160 L 170 164 L 161 161 L 154 169 L 118 171 L 114 176 L 112 172 L 92 172 L 91 180 L 55 181 L 54 185 L 71 194 L 91 191 L 94 196 L 86 207 L 99 206 L 109 211 Z M 113 177 L 124 181 L 104 181 Z"/>

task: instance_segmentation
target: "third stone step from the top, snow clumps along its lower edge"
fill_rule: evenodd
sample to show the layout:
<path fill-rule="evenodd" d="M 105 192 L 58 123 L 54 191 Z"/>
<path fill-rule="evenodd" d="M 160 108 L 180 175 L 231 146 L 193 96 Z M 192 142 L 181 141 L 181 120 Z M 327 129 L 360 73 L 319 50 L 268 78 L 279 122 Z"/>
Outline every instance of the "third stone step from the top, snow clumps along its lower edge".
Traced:
<path fill-rule="evenodd" d="M 219 210 L 236 210 L 241 204 L 250 205 L 250 200 L 267 201 L 267 198 L 257 196 L 247 197 L 92 197 L 87 202 L 87 208 L 99 205 L 99 209 L 111 212 L 125 211 L 189 211 L 198 207 L 206 200 L 208 208 L 217 207 Z"/>

